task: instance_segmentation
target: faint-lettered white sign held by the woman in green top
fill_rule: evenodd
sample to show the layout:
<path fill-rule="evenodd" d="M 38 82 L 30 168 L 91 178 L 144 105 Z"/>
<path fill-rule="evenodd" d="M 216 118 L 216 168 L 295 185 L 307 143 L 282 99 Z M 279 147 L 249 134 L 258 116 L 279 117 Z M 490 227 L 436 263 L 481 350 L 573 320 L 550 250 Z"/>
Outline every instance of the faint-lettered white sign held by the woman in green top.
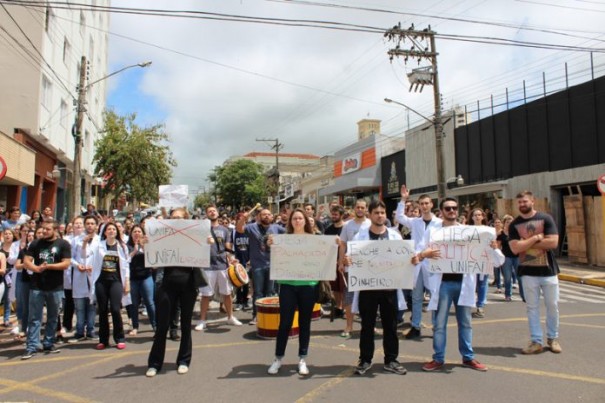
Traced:
<path fill-rule="evenodd" d="M 273 235 L 271 280 L 335 280 L 338 244 L 334 236 Z"/>

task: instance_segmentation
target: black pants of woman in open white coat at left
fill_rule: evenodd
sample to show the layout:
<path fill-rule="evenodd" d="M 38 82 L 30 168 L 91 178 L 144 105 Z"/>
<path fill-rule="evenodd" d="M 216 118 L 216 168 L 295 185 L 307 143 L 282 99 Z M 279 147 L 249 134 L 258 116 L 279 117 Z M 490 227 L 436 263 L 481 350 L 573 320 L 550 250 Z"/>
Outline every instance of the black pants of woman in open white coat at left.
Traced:
<path fill-rule="evenodd" d="M 116 343 L 124 342 L 124 324 L 122 323 L 122 295 L 124 287 L 119 280 L 105 281 L 97 280 L 95 283 L 95 295 L 97 296 L 97 306 L 99 308 L 99 342 L 105 345 L 109 344 L 109 318 L 113 322 L 113 340 Z"/>

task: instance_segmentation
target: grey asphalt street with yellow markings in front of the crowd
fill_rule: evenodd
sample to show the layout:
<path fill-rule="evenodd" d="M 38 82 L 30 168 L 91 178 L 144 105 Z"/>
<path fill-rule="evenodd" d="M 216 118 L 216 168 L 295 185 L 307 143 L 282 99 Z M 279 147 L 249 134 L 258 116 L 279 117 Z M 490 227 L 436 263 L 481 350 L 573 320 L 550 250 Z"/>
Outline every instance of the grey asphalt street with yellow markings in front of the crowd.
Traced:
<path fill-rule="evenodd" d="M 408 374 L 382 370 L 381 337 L 376 337 L 372 369 L 353 374 L 358 357 L 359 323 L 351 339 L 340 332 L 344 321 L 322 318 L 312 324 L 308 364 L 311 374 L 296 373 L 297 340 L 291 340 L 285 365 L 276 376 L 267 375 L 275 342 L 256 337 L 247 324 L 249 312 L 238 312 L 244 325 L 228 326 L 219 318 L 204 332 L 194 332 L 193 360 L 188 374 L 178 375 L 174 363 L 178 342 L 168 343 L 166 364 L 155 378 L 146 378 L 152 333 L 143 321 L 139 335 L 127 339 L 127 348 L 94 350 L 86 341 L 64 344 L 60 354 L 38 354 L 22 361 L 23 346 L 8 331 L 0 335 L 0 401 L 43 402 L 603 402 L 605 368 L 602 342 L 605 331 L 605 289 L 565 281 L 561 283 L 561 354 L 520 353 L 529 341 L 525 306 L 514 294 L 505 302 L 490 288 L 486 317 L 473 319 L 477 359 L 485 373 L 462 367 L 457 351 L 455 317 L 450 316 L 446 367 L 425 373 L 431 359 L 432 332 L 424 328 L 420 340 L 401 337 L 399 360 Z M 406 313 L 406 321 L 409 314 Z M 424 323 L 430 323 L 425 313 Z M 402 333 L 406 332 L 402 328 Z"/>

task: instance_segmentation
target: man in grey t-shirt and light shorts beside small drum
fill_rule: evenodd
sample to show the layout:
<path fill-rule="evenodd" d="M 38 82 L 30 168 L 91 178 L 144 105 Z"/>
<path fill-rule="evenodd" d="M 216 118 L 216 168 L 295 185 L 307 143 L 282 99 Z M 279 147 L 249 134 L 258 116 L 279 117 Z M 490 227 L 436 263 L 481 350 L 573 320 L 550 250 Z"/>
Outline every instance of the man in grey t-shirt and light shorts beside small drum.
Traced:
<path fill-rule="evenodd" d="M 208 306 L 217 291 L 223 297 L 223 303 L 227 311 L 227 324 L 241 326 L 242 322 L 233 316 L 233 298 L 231 296 L 233 286 L 227 274 L 229 264 L 237 264 L 237 260 L 231 256 L 231 232 L 227 227 L 219 224 L 219 214 L 215 205 L 211 204 L 206 207 L 206 217 L 210 220 L 210 234 L 214 243 L 210 246 L 210 267 L 204 268 L 208 285 L 200 290 L 202 294 L 200 321 L 195 326 L 195 330 L 206 329 Z"/>

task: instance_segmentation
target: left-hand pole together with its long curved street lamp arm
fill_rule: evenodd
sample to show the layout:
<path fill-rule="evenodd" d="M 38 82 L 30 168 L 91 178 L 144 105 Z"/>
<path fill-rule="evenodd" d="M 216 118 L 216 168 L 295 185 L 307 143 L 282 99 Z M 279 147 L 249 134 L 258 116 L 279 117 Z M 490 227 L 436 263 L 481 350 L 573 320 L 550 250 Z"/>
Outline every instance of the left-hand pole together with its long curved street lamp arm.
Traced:
<path fill-rule="evenodd" d="M 78 86 L 78 104 L 77 104 L 77 115 L 76 115 L 76 131 L 74 133 L 75 149 L 74 149 L 74 194 L 73 194 L 73 211 L 72 214 L 76 214 L 82 208 L 80 204 L 82 202 L 82 129 L 84 125 L 84 113 L 86 112 L 86 92 L 90 87 L 97 84 L 100 81 L 107 80 L 109 77 L 115 76 L 123 72 L 124 70 L 131 69 L 133 67 L 145 68 L 150 66 L 151 62 L 137 63 L 130 66 L 122 67 L 119 70 L 114 71 L 111 74 L 101 77 L 88 85 L 86 82 L 86 56 L 82 56 L 80 64 L 80 84 Z"/>

